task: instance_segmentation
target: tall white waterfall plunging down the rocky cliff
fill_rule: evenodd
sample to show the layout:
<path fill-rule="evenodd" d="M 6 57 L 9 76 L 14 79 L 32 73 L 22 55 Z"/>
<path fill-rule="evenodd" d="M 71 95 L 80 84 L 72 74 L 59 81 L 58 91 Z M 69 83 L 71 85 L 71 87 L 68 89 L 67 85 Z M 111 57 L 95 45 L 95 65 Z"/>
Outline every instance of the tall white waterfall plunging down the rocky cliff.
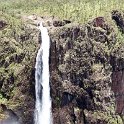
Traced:
<path fill-rule="evenodd" d="M 46 27 L 40 23 L 42 44 L 38 50 L 35 65 L 35 124 L 52 124 L 49 87 L 50 38 Z"/>

